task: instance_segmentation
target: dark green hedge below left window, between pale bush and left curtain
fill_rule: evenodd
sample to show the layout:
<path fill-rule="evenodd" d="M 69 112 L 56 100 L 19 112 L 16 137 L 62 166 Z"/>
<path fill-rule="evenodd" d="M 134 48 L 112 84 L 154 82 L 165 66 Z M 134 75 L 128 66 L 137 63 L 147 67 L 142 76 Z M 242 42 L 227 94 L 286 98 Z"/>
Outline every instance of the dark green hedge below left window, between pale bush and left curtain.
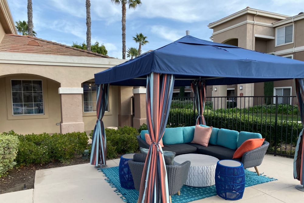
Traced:
<path fill-rule="evenodd" d="M 18 135 L 14 131 L 10 133 L 19 139 L 16 157 L 18 165 L 28 166 L 32 163 L 48 163 L 54 160 L 68 161 L 75 154 L 80 154 L 88 148 L 88 136 L 85 132 L 53 135 Z"/>

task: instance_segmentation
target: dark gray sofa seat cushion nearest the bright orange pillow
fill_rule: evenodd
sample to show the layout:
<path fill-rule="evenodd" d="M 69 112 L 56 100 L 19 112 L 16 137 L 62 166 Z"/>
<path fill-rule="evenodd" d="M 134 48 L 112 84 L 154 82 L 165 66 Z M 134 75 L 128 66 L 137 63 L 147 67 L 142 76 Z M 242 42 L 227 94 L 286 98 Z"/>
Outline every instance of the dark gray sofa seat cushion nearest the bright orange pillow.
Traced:
<path fill-rule="evenodd" d="M 219 160 L 222 159 L 232 159 L 235 149 L 229 149 L 226 147 L 214 145 L 205 148 L 198 149 L 199 154 L 206 154 L 209 156 L 214 156 Z"/>

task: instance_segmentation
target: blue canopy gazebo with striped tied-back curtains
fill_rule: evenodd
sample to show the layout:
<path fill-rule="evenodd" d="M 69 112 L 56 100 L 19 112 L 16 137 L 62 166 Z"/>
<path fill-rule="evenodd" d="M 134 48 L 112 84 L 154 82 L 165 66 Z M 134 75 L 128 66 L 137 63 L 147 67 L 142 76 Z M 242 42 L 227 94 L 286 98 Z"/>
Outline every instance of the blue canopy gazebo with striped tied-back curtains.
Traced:
<path fill-rule="evenodd" d="M 191 84 L 195 93 L 195 106 L 199 112 L 197 123 L 204 123 L 206 85 L 232 85 L 296 79 L 296 91 L 303 119 L 303 78 L 303 61 L 214 43 L 186 35 L 164 47 L 96 73 L 95 84 L 98 84 L 99 87 L 105 84 L 147 86 L 147 126 L 152 144 L 143 171 L 139 202 L 168 202 L 166 170 L 159 141 L 164 134 L 168 120 L 174 86 L 189 86 Z M 100 88 L 101 92 L 106 90 L 106 88 Z M 105 105 L 103 103 L 107 102 L 105 98 L 101 99 L 101 107 Z M 102 110 L 102 108 L 99 109 Z M 100 130 L 94 130 L 93 142 L 97 137 L 99 141 L 106 140 L 101 119 L 102 116 L 99 116 L 95 129 Z M 102 127 L 98 127 L 98 125 L 102 125 Z M 302 180 L 304 148 L 302 132 L 299 135 L 295 154 L 294 177 L 300 180 L 301 184 L 304 184 Z M 92 153 L 101 152 L 104 155 L 106 144 L 103 143 L 102 146 L 105 146 L 102 151 L 92 148 Z M 105 163 L 105 160 L 101 162 Z"/>

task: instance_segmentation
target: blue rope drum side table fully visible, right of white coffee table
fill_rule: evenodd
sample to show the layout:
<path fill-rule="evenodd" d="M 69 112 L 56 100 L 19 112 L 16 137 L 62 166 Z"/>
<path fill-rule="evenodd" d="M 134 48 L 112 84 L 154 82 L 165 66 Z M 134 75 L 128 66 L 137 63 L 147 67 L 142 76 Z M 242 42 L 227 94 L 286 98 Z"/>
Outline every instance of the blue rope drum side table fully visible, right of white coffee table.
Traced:
<path fill-rule="evenodd" d="M 215 187 L 219 197 L 226 200 L 238 200 L 245 189 L 243 164 L 235 160 L 220 160 L 215 169 Z"/>

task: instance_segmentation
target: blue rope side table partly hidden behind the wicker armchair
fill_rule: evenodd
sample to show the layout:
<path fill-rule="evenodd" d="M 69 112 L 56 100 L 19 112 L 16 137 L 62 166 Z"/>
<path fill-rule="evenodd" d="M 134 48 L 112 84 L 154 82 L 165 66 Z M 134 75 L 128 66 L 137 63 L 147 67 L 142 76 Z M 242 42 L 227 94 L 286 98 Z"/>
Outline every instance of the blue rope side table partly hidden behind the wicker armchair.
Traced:
<path fill-rule="evenodd" d="M 119 162 L 119 182 L 121 187 L 126 189 L 135 189 L 132 173 L 128 164 L 129 159 L 133 159 L 134 154 L 124 154 Z"/>

